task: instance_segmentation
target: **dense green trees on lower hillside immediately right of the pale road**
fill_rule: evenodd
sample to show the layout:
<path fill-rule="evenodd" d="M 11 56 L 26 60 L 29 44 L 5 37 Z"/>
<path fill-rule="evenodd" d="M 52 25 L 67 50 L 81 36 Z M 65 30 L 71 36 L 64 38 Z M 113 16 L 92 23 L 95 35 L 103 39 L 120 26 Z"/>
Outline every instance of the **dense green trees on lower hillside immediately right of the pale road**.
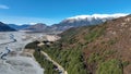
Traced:
<path fill-rule="evenodd" d="M 56 47 L 56 45 L 53 45 L 51 48 L 44 47 L 43 50 L 60 63 L 68 71 L 68 74 L 87 74 L 81 47 L 62 50 L 60 46 Z"/>

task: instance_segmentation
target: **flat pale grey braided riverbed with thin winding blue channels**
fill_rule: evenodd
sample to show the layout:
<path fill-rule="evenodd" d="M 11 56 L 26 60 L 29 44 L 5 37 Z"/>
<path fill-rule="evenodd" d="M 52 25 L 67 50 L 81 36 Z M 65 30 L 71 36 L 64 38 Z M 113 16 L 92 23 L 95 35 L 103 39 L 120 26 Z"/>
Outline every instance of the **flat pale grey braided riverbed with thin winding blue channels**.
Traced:
<path fill-rule="evenodd" d="M 14 39 L 10 39 L 10 35 L 14 35 Z M 0 59 L 0 74 L 44 74 L 44 69 L 35 61 L 29 52 L 26 53 L 24 47 L 26 44 L 35 40 L 50 40 L 56 39 L 43 33 L 23 33 L 23 32 L 2 32 L 0 33 L 0 52 L 5 51 L 8 47 L 11 52 L 4 57 L 5 60 Z M 25 52 L 25 53 L 24 53 Z M 0 55 L 1 57 L 1 55 Z"/>

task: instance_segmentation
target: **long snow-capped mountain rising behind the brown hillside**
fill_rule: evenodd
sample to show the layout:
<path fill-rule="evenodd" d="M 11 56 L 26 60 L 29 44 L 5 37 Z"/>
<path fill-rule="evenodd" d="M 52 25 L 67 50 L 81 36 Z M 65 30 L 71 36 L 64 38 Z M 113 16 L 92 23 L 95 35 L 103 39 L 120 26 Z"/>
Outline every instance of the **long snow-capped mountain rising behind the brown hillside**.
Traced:
<path fill-rule="evenodd" d="M 85 26 L 85 25 L 97 25 L 106 21 L 114 20 L 120 16 L 126 16 L 127 14 L 93 14 L 93 15 L 78 15 L 69 17 L 60 22 L 59 24 L 52 25 L 53 28 L 58 30 L 64 30 L 70 27 Z"/>

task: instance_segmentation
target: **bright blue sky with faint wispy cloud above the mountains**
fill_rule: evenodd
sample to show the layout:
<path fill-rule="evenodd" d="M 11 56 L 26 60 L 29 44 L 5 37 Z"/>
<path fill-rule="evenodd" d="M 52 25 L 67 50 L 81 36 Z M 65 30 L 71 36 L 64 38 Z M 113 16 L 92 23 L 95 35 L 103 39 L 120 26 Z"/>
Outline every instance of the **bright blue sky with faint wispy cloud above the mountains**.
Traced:
<path fill-rule="evenodd" d="M 75 15 L 130 12 L 131 0 L 0 0 L 0 21 L 14 24 L 51 25 Z"/>

